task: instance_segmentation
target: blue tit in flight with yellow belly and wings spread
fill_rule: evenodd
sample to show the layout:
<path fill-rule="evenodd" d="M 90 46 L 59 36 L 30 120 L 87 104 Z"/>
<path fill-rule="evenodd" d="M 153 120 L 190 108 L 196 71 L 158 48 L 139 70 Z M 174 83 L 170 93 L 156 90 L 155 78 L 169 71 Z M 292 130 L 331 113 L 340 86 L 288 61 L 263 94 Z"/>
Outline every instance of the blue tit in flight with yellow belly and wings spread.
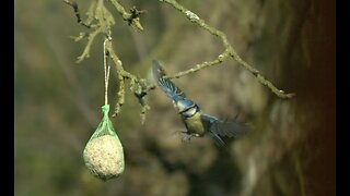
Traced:
<path fill-rule="evenodd" d="M 153 61 L 153 77 L 161 89 L 170 97 L 186 126 L 185 137 L 202 137 L 209 134 L 217 145 L 224 146 L 225 143 L 221 136 L 236 137 L 245 133 L 245 127 L 238 122 L 228 122 L 219 120 L 215 117 L 203 113 L 199 106 L 192 100 L 188 99 L 186 95 L 175 86 L 175 84 L 165 78 L 165 71 L 158 61 Z"/>

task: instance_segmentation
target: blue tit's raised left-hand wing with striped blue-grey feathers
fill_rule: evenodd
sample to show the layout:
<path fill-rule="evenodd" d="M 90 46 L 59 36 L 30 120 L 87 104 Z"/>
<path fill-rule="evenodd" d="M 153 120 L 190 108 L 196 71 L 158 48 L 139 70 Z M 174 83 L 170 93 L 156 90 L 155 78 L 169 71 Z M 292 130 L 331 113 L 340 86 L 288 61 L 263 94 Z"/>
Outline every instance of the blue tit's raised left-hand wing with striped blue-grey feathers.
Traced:
<path fill-rule="evenodd" d="M 164 75 L 165 72 L 160 65 L 159 61 L 153 60 L 153 77 L 159 86 L 163 89 L 163 91 L 175 101 L 185 98 L 185 94 L 178 87 L 176 87 L 173 82 L 164 78 Z"/>

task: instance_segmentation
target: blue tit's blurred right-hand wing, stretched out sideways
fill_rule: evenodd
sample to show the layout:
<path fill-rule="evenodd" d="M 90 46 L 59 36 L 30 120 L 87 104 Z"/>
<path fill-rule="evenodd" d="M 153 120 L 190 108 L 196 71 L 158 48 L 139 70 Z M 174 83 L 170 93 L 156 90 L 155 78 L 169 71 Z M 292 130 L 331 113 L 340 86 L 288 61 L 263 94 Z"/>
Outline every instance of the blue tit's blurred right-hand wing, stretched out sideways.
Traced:
<path fill-rule="evenodd" d="M 240 122 L 221 121 L 206 113 L 202 113 L 202 119 L 210 122 L 209 131 L 219 136 L 238 137 L 246 133 L 246 126 Z"/>

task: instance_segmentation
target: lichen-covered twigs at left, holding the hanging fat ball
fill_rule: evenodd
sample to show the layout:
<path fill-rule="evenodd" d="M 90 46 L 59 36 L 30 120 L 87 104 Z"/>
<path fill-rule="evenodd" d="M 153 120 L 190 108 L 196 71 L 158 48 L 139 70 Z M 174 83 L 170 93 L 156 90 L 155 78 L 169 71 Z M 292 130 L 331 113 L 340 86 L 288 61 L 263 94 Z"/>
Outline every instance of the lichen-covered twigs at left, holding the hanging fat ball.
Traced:
<path fill-rule="evenodd" d="M 81 19 L 79 7 L 74 1 L 63 0 L 68 5 L 73 8 L 74 14 L 77 16 L 77 21 L 79 24 L 88 27 L 91 32 L 90 33 L 80 33 L 78 37 L 74 37 L 75 41 L 80 41 L 83 38 L 88 38 L 88 44 L 83 50 L 83 53 L 78 57 L 77 63 L 80 63 L 84 59 L 89 58 L 90 56 L 90 49 L 92 47 L 93 41 L 97 37 L 97 35 L 102 34 L 106 39 L 104 41 L 104 56 L 108 56 L 108 58 L 112 59 L 113 63 L 116 65 L 117 70 L 117 78 L 118 78 L 118 85 L 119 89 L 117 93 L 117 103 L 115 107 L 115 112 L 113 117 L 116 117 L 120 111 L 121 107 L 125 103 L 125 81 L 130 79 L 130 90 L 133 93 L 135 97 L 140 102 L 142 109 L 141 109 L 141 121 L 144 122 L 144 115 L 147 110 L 150 109 L 148 103 L 144 100 L 144 96 L 148 94 L 150 88 L 147 85 L 145 79 L 139 78 L 135 76 L 133 74 L 127 72 L 124 70 L 122 62 L 118 58 L 118 56 L 115 53 L 112 45 L 112 26 L 115 25 L 115 20 L 110 12 L 106 9 L 104 5 L 104 0 L 92 0 L 90 8 L 86 12 L 88 19 L 83 21 Z M 132 7 L 130 9 L 130 13 L 127 12 L 124 7 L 117 1 L 117 0 L 108 0 L 117 10 L 117 12 L 121 15 L 124 21 L 127 22 L 129 26 L 131 26 L 137 32 L 143 30 L 143 27 L 140 23 L 139 16 L 144 13 L 145 11 L 139 11 L 136 9 L 136 7 Z"/>

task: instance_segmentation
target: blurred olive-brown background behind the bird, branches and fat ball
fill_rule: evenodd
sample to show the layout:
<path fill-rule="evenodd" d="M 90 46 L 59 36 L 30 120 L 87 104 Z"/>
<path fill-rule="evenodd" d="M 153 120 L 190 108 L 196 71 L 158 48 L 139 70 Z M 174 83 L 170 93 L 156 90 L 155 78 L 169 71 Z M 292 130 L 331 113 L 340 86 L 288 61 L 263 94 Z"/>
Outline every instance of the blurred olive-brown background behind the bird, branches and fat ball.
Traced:
<path fill-rule="evenodd" d="M 83 19 L 90 1 L 77 1 Z M 151 60 L 168 73 L 209 61 L 221 40 L 156 0 L 122 0 L 147 10 L 144 32 L 116 19 L 114 49 L 127 71 L 149 79 Z M 326 0 L 179 1 L 224 32 L 237 53 L 278 88 L 296 93 L 279 99 L 233 60 L 174 82 L 203 111 L 248 122 L 253 131 L 225 139 L 182 142 L 184 125 L 171 101 L 155 89 L 151 110 L 128 91 L 112 118 L 125 149 L 126 169 L 102 182 L 84 166 L 82 151 L 102 120 L 104 81 L 102 36 L 91 56 L 75 64 L 85 40 L 74 42 L 78 25 L 62 1 L 15 1 L 15 171 L 18 196 L 311 196 L 335 195 L 335 2 Z M 118 83 L 112 69 L 109 100 Z"/>

